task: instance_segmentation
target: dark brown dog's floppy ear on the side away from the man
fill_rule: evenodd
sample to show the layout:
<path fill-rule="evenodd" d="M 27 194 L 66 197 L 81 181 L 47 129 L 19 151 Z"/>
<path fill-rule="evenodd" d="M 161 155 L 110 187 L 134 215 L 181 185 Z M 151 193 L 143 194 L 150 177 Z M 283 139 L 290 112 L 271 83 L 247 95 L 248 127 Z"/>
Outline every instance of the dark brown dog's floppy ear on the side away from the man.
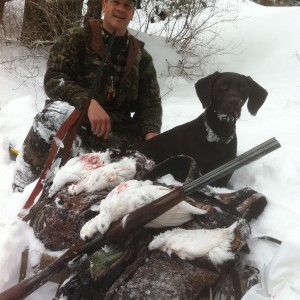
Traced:
<path fill-rule="evenodd" d="M 251 115 L 255 116 L 260 109 L 260 107 L 264 104 L 268 92 L 256 83 L 250 76 L 247 77 L 250 86 L 250 94 L 248 99 L 248 110 Z"/>

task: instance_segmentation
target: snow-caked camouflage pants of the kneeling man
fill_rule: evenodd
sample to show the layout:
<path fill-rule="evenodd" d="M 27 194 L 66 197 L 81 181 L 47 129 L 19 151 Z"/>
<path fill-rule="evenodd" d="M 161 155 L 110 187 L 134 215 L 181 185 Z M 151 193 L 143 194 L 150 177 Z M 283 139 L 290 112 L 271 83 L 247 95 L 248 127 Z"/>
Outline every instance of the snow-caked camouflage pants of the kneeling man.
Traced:
<path fill-rule="evenodd" d="M 74 107 L 63 101 L 49 100 L 38 113 L 29 130 L 16 160 L 13 190 L 22 191 L 36 180 L 47 161 L 52 139 L 72 113 Z M 105 151 L 108 148 L 136 150 L 142 142 L 138 128 L 124 125 L 122 130 L 113 131 L 107 140 L 94 136 L 86 119 L 73 142 L 72 156 L 79 152 Z"/>

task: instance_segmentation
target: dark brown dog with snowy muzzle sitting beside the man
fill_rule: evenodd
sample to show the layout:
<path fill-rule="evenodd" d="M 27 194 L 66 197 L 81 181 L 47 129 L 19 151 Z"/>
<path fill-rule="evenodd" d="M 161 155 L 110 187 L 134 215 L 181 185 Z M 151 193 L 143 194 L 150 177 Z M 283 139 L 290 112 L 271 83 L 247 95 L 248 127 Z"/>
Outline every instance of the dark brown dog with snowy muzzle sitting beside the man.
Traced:
<path fill-rule="evenodd" d="M 176 155 L 192 157 L 201 174 L 236 157 L 236 120 L 242 106 L 256 115 L 268 92 L 251 77 L 241 74 L 215 72 L 198 80 L 197 95 L 205 111 L 195 120 L 145 142 L 141 152 L 156 163 Z M 212 185 L 226 186 L 231 175 Z"/>

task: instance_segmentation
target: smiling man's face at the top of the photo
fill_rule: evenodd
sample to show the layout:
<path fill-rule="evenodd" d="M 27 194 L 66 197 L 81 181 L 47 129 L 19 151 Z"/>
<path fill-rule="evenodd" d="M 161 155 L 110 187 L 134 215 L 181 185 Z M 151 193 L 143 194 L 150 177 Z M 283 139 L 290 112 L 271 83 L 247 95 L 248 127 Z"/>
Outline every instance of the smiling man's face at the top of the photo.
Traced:
<path fill-rule="evenodd" d="M 132 0 L 103 0 L 102 11 L 105 30 L 110 33 L 117 30 L 117 36 L 125 35 L 127 26 L 133 17 L 134 2 Z"/>

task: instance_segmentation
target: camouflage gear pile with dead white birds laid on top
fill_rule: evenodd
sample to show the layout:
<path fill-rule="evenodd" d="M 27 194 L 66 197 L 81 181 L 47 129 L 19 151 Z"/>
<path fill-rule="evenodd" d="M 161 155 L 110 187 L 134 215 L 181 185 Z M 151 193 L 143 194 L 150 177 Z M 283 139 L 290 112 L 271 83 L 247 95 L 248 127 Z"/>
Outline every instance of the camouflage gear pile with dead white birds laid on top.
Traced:
<path fill-rule="evenodd" d="M 199 176 L 190 157 L 174 157 L 155 166 L 138 152 L 126 153 L 125 160 L 119 152 L 97 155 L 71 159 L 43 193 L 44 205 L 30 225 L 48 250 L 67 249 L 97 231 L 104 233 L 111 222 L 144 205 L 140 202 Z M 74 166 L 76 172 L 71 172 L 68 168 Z M 102 185 L 96 172 L 106 178 Z M 95 181 L 88 183 L 91 178 Z M 122 201 L 128 199 L 136 202 L 125 209 Z M 262 194 L 250 188 L 226 193 L 201 189 L 152 225 L 70 263 L 57 297 L 240 299 L 258 282 L 259 271 L 240 254 L 249 251 L 249 222 L 266 203 Z"/>

